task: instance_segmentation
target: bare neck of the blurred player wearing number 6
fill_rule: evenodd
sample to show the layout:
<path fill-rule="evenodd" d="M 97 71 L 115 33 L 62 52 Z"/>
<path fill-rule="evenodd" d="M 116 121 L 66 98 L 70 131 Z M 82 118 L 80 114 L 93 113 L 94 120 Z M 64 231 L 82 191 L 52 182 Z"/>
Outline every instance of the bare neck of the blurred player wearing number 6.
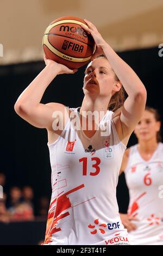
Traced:
<path fill-rule="evenodd" d="M 156 138 L 151 138 L 148 141 L 139 141 L 138 144 L 139 150 L 142 153 L 151 153 L 155 151 L 155 149 L 158 147 L 158 142 L 156 141 Z"/>

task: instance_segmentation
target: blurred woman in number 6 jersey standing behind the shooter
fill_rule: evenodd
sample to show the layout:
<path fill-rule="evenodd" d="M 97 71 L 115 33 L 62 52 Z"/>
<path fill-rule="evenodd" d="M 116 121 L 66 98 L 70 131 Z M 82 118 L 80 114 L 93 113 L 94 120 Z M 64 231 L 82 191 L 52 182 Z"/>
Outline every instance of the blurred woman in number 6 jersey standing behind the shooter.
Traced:
<path fill-rule="evenodd" d="M 120 214 L 133 245 L 163 245 L 163 144 L 158 112 L 146 107 L 135 127 L 138 144 L 126 150 L 121 172 L 129 188 L 128 214 Z"/>

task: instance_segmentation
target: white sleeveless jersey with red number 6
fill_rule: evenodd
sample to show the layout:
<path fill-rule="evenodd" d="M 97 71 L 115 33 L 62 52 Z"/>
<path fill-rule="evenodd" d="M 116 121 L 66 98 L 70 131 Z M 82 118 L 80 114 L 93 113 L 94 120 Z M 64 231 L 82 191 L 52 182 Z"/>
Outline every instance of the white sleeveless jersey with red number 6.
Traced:
<path fill-rule="evenodd" d="M 139 221 L 129 233 L 131 245 L 163 245 L 163 144 L 151 159 L 142 159 L 137 144 L 130 147 L 125 176 L 129 188 L 128 214 Z"/>

